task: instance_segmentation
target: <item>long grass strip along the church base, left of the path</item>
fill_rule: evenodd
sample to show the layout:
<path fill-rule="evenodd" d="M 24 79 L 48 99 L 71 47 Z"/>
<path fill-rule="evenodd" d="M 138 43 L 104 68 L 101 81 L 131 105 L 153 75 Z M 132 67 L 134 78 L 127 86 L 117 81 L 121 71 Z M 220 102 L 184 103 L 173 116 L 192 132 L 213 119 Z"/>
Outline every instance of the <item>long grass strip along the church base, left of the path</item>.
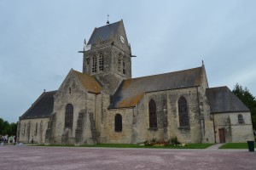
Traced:
<path fill-rule="evenodd" d="M 185 146 L 145 146 L 139 144 L 83 144 L 83 145 L 73 145 L 73 144 L 34 144 L 33 146 L 55 146 L 55 147 L 98 147 L 98 148 L 149 148 L 149 149 L 206 149 L 212 144 L 186 144 Z"/>

